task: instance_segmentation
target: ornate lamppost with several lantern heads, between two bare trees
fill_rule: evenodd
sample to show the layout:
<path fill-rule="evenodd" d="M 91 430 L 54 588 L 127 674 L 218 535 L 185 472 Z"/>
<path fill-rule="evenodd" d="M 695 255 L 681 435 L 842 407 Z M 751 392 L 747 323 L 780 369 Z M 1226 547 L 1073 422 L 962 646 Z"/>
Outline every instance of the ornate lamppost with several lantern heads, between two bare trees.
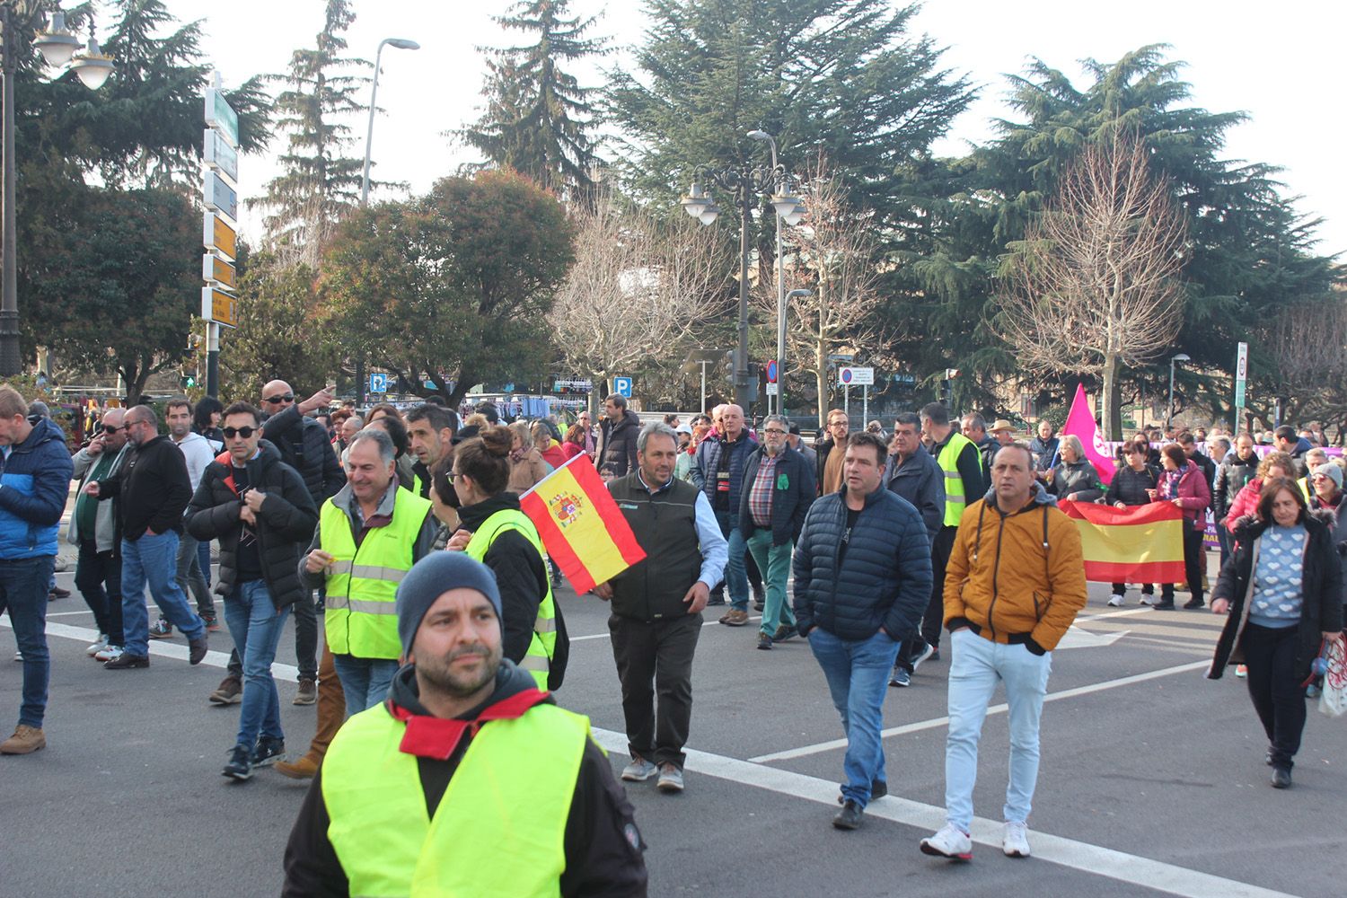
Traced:
<path fill-rule="evenodd" d="M 745 413 L 753 403 L 749 374 L 749 226 L 753 222 L 753 205 L 760 197 L 770 197 L 772 206 L 783 218 L 795 211 L 799 201 L 785 193 L 785 168 L 779 164 L 770 168 L 749 163 L 725 168 L 698 166 L 692 172 L 692 186 L 682 201 L 687 214 L 703 225 L 713 223 L 721 214 L 721 207 L 706 191 L 704 183 L 729 191 L 740 207 L 740 341 L 734 358 L 734 403 Z M 780 364 L 777 359 L 779 366 Z"/>

